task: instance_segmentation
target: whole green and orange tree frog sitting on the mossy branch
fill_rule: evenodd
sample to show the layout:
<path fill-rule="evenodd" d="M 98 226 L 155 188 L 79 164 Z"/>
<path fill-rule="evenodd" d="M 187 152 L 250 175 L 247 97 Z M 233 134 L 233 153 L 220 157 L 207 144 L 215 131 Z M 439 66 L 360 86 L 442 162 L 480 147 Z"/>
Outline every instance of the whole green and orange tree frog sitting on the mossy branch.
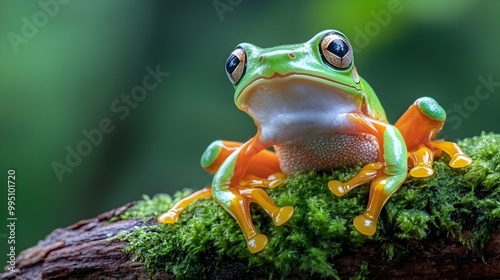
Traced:
<path fill-rule="evenodd" d="M 239 44 L 225 64 L 235 87 L 236 106 L 253 118 L 254 137 L 244 143 L 215 141 L 201 165 L 214 174 L 212 185 L 182 199 L 160 215 L 160 223 L 177 221 L 195 200 L 213 197 L 239 223 L 248 250 L 263 250 L 267 237 L 255 228 L 249 204 L 259 204 L 276 226 L 293 214 L 291 205 L 277 206 L 264 191 L 287 175 L 365 164 L 360 173 L 328 187 L 342 196 L 372 182 L 368 205 L 354 227 L 372 236 L 383 205 L 405 181 L 432 175 L 432 162 L 442 151 L 450 166 L 471 163 L 452 142 L 434 140 L 446 113 L 432 98 L 418 99 L 395 125 L 370 85 L 358 75 L 347 37 L 325 30 L 303 44 L 260 48 Z M 273 147 L 274 152 L 268 148 Z"/>

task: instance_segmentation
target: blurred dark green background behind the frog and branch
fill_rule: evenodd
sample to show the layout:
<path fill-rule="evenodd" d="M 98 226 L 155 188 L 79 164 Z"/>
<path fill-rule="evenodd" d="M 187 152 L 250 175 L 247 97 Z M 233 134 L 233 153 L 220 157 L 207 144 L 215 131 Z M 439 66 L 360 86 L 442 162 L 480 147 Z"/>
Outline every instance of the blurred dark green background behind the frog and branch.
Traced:
<path fill-rule="evenodd" d="M 448 111 L 447 139 L 500 132 L 498 1 L 59 1 L 0 2 L 2 266 L 9 168 L 18 253 L 143 194 L 209 184 L 204 148 L 255 132 L 224 72 L 242 41 L 267 47 L 341 30 L 391 122 L 428 95 Z M 169 75 L 128 116 L 113 111 L 147 66 Z M 480 77 L 494 81 L 481 98 Z M 58 180 L 53 162 L 65 164 L 67 146 L 105 118 L 114 130 Z"/>

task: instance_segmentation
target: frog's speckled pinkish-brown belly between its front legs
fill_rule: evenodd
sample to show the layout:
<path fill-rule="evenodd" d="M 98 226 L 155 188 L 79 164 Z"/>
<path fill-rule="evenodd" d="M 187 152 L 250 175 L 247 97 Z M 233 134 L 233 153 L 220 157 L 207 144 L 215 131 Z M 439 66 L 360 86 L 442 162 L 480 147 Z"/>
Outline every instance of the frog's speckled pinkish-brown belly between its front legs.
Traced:
<path fill-rule="evenodd" d="M 330 170 L 377 161 L 379 145 L 370 134 L 330 134 L 274 146 L 283 172 Z"/>

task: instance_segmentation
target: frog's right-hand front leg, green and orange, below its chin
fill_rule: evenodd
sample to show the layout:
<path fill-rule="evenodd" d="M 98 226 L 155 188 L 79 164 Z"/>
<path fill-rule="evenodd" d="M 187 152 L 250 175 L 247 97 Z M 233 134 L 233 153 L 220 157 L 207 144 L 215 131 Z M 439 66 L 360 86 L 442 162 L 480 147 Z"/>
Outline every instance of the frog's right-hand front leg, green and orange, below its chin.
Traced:
<path fill-rule="evenodd" d="M 380 145 L 379 162 L 367 164 L 346 183 L 330 181 L 328 186 L 335 195 L 341 196 L 373 180 L 366 210 L 353 221 L 359 232 L 372 236 L 377 230 L 382 207 L 406 179 L 407 150 L 401 133 L 394 126 L 360 114 L 350 114 L 349 119 L 357 124 L 357 131 L 377 137 Z"/>

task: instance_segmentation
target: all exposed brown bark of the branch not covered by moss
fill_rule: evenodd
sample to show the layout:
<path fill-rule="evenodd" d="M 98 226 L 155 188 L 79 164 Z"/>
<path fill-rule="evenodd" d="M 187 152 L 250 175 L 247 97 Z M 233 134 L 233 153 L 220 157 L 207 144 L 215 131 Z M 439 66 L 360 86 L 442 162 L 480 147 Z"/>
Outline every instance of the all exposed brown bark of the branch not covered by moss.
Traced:
<path fill-rule="evenodd" d="M 141 263 L 132 262 L 123 252 L 125 242 L 111 239 L 121 231 L 144 225 L 140 220 L 111 220 L 133 204 L 56 229 L 21 252 L 15 271 L 3 273 L 0 279 L 174 279 L 166 272 L 148 275 Z M 414 254 L 389 262 L 369 244 L 332 261 L 341 278 L 356 275 L 364 259 L 370 260 L 370 279 L 500 279 L 500 232 L 492 234 L 483 258 L 474 256 L 456 238 L 412 241 L 409 247 Z M 231 273 L 221 275 L 226 277 L 217 278 L 233 279 L 227 276 Z M 306 278 L 295 274 L 287 279 Z"/>

